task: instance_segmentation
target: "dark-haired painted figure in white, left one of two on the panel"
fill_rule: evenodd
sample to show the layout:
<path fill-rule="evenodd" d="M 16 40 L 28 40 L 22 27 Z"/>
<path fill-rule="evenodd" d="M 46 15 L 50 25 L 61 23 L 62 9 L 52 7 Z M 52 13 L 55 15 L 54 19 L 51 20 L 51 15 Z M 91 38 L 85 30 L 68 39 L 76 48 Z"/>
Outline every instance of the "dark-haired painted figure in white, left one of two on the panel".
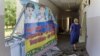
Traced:
<path fill-rule="evenodd" d="M 32 3 L 28 3 L 25 9 L 25 23 L 36 23 L 35 6 Z"/>

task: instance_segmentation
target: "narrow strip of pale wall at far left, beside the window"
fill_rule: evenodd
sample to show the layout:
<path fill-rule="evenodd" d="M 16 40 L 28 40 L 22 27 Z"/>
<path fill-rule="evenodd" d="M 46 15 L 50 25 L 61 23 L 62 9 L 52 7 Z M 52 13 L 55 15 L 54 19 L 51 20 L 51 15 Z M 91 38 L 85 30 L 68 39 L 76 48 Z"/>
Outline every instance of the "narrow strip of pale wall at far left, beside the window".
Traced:
<path fill-rule="evenodd" d="M 4 0 L 0 0 L 0 56 L 10 56 L 10 48 L 5 47 L 4 39 Z"/>

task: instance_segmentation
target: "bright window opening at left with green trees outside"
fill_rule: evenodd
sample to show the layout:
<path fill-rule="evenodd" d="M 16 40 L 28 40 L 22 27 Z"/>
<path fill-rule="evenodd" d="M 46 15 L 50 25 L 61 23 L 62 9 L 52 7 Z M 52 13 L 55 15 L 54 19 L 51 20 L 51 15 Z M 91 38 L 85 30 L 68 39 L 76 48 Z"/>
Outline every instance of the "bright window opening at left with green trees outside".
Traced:
<path fill-rule="evenodd" d="M 16 1 L 5 0 L 5 37 L 11 35 L 16 24 Z M 5 38 L 5 39 L 6 39 Z"/>

